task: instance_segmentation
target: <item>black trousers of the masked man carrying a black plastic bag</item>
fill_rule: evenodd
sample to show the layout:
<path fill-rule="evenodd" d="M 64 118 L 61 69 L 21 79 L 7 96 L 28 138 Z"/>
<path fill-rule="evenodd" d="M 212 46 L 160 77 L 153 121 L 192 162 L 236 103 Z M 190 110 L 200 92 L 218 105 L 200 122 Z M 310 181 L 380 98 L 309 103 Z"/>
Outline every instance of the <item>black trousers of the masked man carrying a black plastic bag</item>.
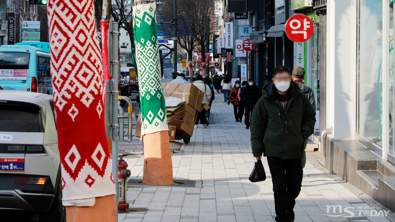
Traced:
<path fill-rule="evenodd" d="M 283 160 L 278 157 L 268 156 L 270 174 L 273 182 L 274 204 L 277 222 L 289 222 L 285 211 L 293 210 L 295 198 L 299 195 L 303 169 L 301 159 Z"/>

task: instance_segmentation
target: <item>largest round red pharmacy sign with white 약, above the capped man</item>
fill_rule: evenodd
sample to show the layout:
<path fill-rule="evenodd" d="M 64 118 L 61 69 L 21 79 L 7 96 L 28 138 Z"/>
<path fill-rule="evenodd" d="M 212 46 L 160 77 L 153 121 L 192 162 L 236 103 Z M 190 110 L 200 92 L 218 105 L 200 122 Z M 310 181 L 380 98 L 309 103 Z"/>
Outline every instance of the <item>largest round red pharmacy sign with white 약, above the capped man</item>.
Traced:
<path fill-rule="evenodd" d="M 285 24 L 285 33 L 292 41 L 307 41 L 312 36 L 313 31 L 313 22 L 306 15 L 294 15 Z"/>

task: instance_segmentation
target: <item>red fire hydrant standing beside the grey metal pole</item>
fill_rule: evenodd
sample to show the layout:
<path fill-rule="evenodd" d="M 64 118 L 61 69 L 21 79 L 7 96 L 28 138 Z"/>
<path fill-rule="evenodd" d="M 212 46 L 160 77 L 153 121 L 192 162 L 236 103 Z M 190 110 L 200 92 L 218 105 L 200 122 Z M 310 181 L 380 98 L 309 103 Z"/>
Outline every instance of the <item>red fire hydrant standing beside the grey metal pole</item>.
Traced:
<path fill-rule="evenodd" d="M 126 179 L 130 177 L 130 170 L 126 169 L 128 164 L 120 157 L 118 160 L 118 213 L 125 213 L 129 208 L 126 203 Z"/>

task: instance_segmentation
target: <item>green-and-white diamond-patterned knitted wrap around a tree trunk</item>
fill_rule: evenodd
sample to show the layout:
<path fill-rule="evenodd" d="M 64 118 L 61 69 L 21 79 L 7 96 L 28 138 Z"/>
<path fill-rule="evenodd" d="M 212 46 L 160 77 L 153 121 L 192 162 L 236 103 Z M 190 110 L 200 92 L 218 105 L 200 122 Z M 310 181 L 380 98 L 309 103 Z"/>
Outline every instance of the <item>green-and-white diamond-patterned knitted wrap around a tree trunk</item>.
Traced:
<path fill-rule="evenodd" d="M 140 90 L 141 135 L 167 129 L 166 105 L 163 96 L 156 4 L 133 7 L 133 27 Z"/>

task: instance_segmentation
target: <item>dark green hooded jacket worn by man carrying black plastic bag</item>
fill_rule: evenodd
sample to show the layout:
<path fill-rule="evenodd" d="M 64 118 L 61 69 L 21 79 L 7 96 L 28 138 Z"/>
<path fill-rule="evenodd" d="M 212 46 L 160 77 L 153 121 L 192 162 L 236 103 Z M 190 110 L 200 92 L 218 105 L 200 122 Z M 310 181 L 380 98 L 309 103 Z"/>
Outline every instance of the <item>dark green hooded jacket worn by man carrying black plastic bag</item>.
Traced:
<path fill-rule="evenodd" d="M 282 159 L 302 158 L 303 142 L 314 132 L 316 112 L 297 83 L 291 81 L 286 110 L 276 99 L 276 87 L 267 83 L 256 103 L 251 119 L 251 147 L 254 156 Z"/>

